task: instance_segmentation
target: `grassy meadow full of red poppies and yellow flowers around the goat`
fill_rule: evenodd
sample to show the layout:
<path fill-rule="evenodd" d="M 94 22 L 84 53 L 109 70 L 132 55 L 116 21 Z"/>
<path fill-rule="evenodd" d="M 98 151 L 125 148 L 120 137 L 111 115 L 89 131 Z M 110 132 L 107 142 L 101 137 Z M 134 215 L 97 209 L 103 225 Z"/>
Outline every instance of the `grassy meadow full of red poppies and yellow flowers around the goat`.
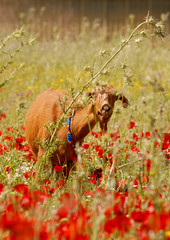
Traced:
<path fill-rule="evenodd" d="M 117 102 L 107 134 L 96 125 L 76 145 L 68 179 L 65 166 L 39 169 L 25 139 L 34 98 L 51 87 L 75 96 L 131 32 L 109 41 L 86 30 L 72 41 L 36 42 L 23 29 L 1 37 L 0 239 L 170 239 L 168 35 L 139 29 L 87 86 L 111 84 L 129 107 Z"/>

